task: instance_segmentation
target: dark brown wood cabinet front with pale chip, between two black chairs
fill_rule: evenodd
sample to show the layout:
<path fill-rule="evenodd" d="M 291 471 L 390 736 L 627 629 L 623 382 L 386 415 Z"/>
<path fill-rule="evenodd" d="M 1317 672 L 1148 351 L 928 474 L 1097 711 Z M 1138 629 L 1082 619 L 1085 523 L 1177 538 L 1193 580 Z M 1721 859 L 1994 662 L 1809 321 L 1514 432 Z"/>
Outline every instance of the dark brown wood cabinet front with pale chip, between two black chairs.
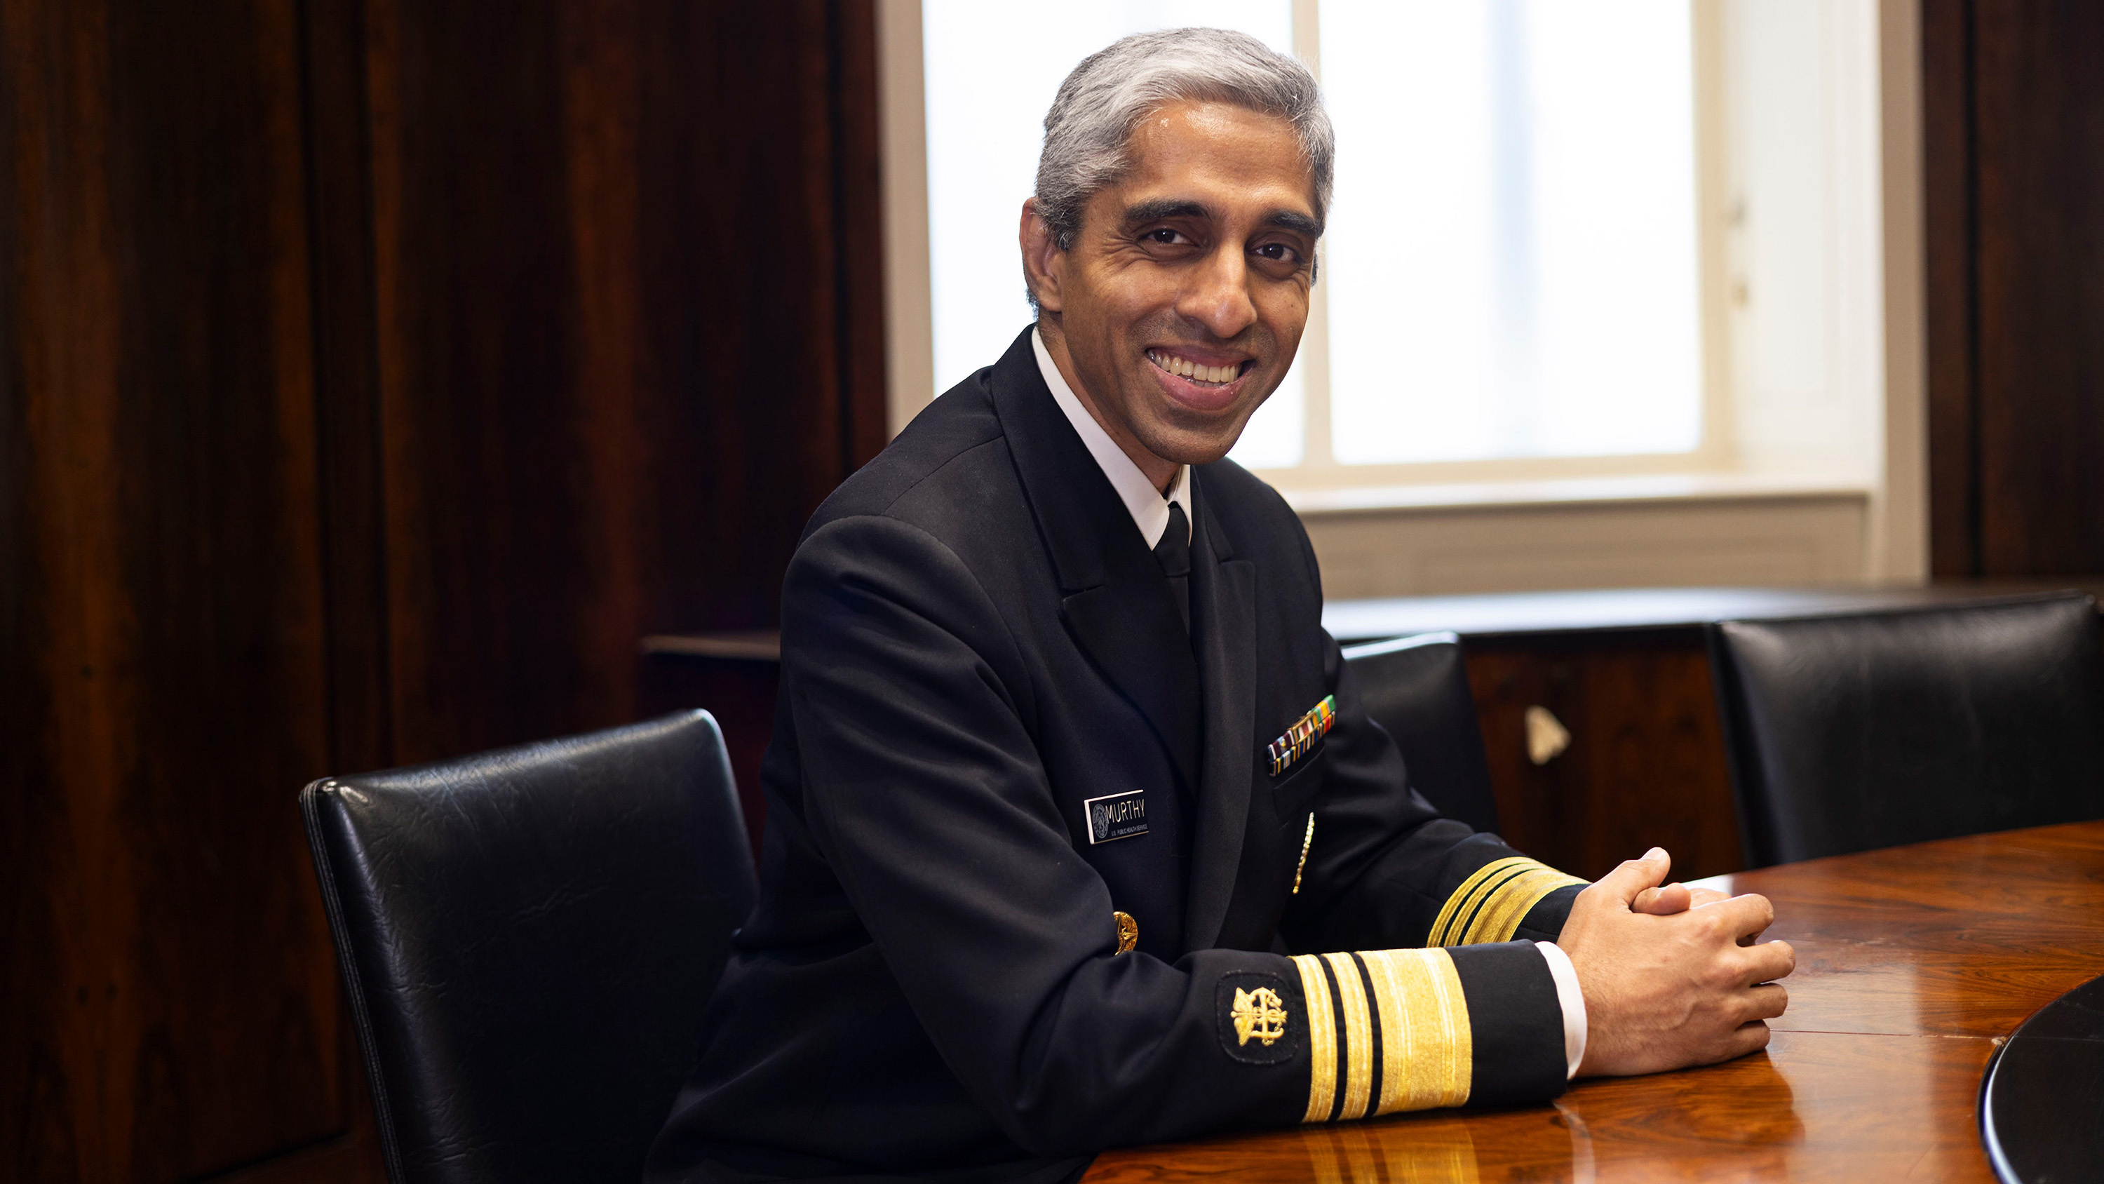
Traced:
<path fill-rule="evenodd" d="M 1744 866 L 1708 656 L 1685 633 L 1466 646 L 1506 841 L 1586 879 L 1654 845 L 1675 877 Z M 1572 732 L 1544 765 L 1528 757 L 1528 707 Z"/>

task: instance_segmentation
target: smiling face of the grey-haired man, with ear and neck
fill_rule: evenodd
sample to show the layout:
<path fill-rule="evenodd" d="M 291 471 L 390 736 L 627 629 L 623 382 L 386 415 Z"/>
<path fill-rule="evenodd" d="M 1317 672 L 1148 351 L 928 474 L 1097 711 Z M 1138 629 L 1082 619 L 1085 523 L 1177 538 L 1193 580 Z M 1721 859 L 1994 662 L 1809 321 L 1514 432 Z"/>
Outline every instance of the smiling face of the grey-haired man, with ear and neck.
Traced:
<path fill-rule="evenodd" d="M 1290 122 L 1170 103 L 1132 168 L 1060 250 L 1023 206 L 1046 351 L 1096 423 L 1166 486 L 1227 456 L 1300 347 L 1315 282 L 1315 183 Z"/>

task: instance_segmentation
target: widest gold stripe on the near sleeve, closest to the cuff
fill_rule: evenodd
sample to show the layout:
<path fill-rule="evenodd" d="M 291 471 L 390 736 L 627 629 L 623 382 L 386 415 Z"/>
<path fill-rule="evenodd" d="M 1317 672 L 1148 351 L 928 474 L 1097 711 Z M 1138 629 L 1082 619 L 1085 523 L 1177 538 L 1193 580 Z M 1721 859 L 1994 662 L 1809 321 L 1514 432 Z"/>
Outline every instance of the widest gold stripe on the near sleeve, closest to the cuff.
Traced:
<path fill-rule="evenodd" d="M 1380 1020 L 1376 1115 L 1469 1100 L 1475 1037 L 1454 959 L 1443 948 L 1361 953 Z"/>

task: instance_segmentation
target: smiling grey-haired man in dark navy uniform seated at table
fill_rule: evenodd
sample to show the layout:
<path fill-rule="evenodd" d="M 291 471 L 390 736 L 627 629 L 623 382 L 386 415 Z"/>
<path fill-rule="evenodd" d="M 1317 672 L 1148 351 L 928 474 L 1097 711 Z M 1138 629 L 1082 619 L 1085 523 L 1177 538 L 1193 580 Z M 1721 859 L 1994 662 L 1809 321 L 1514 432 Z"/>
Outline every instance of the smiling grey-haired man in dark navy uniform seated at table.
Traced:
<path fill-rule="evenodd" d="M 762 898 L 652 1182 L 1069 1180 L 1107 1146 L 1553 1098 L 1767 1043 L 1757 896 L 1584 887 L 1412 793 L 1300 522 L 1309 72 L 1174 29 L 1046 116 L 1037 322 L 812 517 Z M 1746 944 L 1740 944 L 1740 942 Z"/>

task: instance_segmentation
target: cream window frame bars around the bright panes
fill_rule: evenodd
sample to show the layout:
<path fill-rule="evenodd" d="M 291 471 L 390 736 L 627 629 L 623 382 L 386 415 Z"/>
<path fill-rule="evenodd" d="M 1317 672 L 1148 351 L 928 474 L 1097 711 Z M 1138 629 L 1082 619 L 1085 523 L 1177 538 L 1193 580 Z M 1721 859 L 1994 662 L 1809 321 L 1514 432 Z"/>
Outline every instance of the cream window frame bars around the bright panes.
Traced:
<path fill-rule="evenodd" d="M 919 0 L 875 0 L 879 40 L 884 265 L 890 427 L 896 433 L 936 393 L 928 254 L 926 86 Z M 1875 505 L 1877 570 L 1923 568 L 1925 488 L 1921 479 L 1921 257 L 1919 257 L 1919 15 L 1904 0 L 1864 0 L 1877 36 L 1877 206 L 1883 322 L 1881 444 L 1868 475 L 1782 473 L 1748 467 L 1740 450 L 1740 351 L 1734 347 L 1734 242 L 1727 65 L 1727 4 L 1690 0 L 1696 95 L 1698 292 L 1702 351 L 1702 437 L 1690 452 L 1622 456 L 1521 456 L 1414 465 L 1338 465 L 1330 450 L 1328 286 L 1317 284 L 1309 345 L 1298 362 L 1304 383 L 1304 452 L 1296 467 L 1256 469 L 1302 513 L 1365 513 L 1382 507 L 1485 509 L 1567 503 L 1708 501 L 1803 496 L 1847 490 Z M 1319 46 L 1319 0 L 1292 0 L 1296 46 Z M 1317 53 L 1307 53 L 1319 72 Z M 1635 492 L 1633 492 L 1635 490 Z M 1925 568 L 1923 568 L 1925 570 Z"/>

